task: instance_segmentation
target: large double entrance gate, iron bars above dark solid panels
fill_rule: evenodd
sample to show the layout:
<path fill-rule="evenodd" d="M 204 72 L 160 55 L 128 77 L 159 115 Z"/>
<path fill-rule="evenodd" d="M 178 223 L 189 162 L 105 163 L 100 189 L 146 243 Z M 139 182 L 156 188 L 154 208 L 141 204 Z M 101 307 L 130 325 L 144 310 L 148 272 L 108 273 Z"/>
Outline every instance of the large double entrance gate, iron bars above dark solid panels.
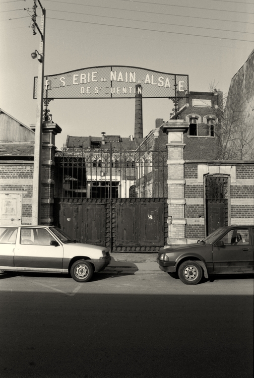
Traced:
<path fill-rule="evenodd" d="M 167 151 L 64 149 L 55 161 L 54 219 L 67 234 L 112 252 L 166 244 Z"/>

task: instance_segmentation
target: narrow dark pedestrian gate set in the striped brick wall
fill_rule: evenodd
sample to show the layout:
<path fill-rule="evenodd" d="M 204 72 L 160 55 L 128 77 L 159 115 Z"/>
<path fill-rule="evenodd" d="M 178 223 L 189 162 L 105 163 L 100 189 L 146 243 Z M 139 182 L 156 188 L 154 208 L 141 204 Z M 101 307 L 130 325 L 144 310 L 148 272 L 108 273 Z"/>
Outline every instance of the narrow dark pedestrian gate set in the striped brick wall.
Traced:
<path fill-rule="evenodd" d="M 228 177 L 205 177 L 206 231 L 211 234 L 218 227 L 228 225 Z"/>

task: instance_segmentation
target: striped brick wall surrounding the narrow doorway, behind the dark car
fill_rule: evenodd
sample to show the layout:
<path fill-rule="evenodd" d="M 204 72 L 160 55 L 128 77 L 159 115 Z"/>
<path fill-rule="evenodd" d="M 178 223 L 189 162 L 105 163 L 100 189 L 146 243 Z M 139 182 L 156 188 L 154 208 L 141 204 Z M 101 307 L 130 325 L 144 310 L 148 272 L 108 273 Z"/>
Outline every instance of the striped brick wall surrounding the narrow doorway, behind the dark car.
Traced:
<path fill-rule="evenodd" d="M 198 177 L 198 167 L 204 163 L 185 164 L 185 218 L 186 238 L 200 239 L 205 236 L 205 209 L 203 176 Z M 247 162 L 223 162 L 222 166 L 214 162 L 206 163 L 210 174 L 226 172 L 231 169 L 229 189 L 229 221 L 231 224 L 254 224 L 254 164 Z M 215 172 L 213 171 L 215 170 Z M 235 173 L 234 173 L 235 172 Z M 202 182 L 199 182 L 201 181 Z M 199 181 L 198 181 L 199 180 Z"/>

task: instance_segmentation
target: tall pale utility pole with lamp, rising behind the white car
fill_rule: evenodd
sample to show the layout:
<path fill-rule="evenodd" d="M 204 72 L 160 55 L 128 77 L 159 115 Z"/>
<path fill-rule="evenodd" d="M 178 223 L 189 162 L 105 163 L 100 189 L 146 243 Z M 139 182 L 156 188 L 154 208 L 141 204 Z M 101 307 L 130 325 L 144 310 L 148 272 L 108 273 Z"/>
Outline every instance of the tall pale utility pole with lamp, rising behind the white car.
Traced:
<path fill-rule="evenodd" d="M 34 173 L 33 173 L 33 198 L 32 198 L 32 225 L 39 225 L 41 223 L 41 156 L 42 156 L 42 115 L 43 115 L 43 95 L 44 95 L 44 52 L 45 52 L 45 18 L 46 10 L 43 8 L 40 0 L 38 3 L 41 7 L 41 22 L 38 26 L 36 23 L 36 9 L 37 0 L 34 0 L 34 14 L 33 20 L 33 34 L 36 34 L 35 28 L 38 29 L 41 35 L 39 51 L 35 50 L 31 54 L 32 58 L 38 58 L 38 81 L 37 81 L 37 108 L 36 108 L 36 123 L 35 123 L 35 139 L 34 139 Z M 38 56 L 37 54 L 38 53 Z"/>

